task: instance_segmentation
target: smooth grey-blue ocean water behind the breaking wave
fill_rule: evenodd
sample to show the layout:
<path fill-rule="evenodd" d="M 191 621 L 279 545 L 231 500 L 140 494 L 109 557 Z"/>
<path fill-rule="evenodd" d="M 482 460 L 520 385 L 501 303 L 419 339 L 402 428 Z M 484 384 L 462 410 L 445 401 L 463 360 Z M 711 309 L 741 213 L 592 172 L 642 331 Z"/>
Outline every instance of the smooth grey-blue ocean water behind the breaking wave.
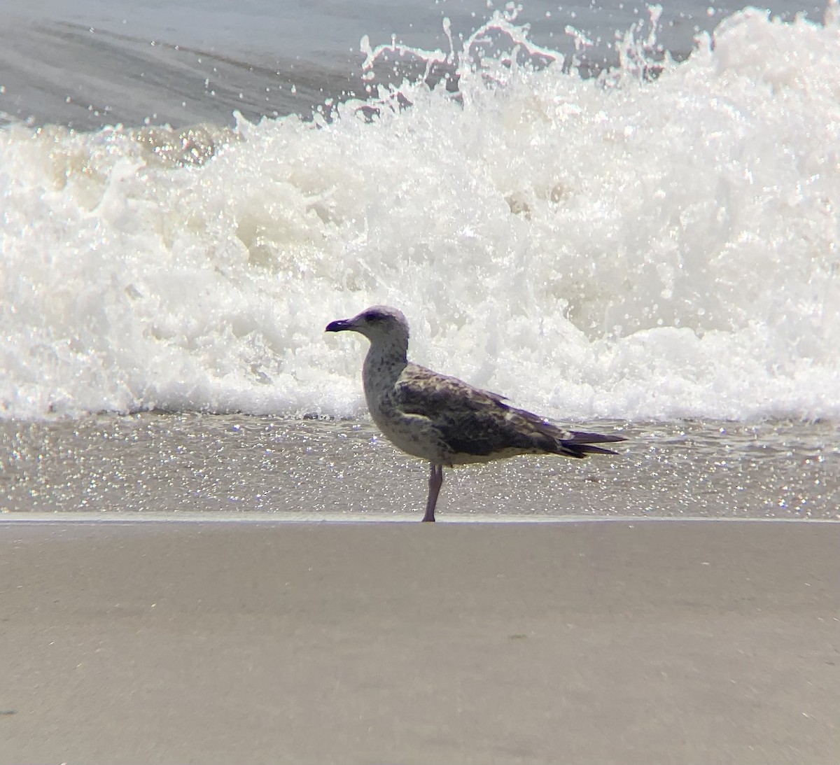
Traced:
<path fill-rule="evenodd" d="M 743 8 L 738 3 L 669 0 L 661 6 L 655 47 L 684 59 L 695 37 Z M 822 22 L 826 0 L 769 0 L 791 21 Z M 234 125 L 310 114 L 330 97 L 366 96 L 361 40 L 406 46 L 398 70 L 423 71 L 422 51 L 451 52 L 491 21 L 516 17 L 536 45 L 574 55 L 583 68 L 615 65 L 635 25 L 648 38 L 650 10 L 623 0 L 562 5 L 499 0 L 35 0 L 0 5 L 0 123 L 24 120 L 79 129 L 145 123 Z M 493 35 L 480 54 L 496 55 Z M 479 52 L 475 50 L 474 52 Z M 489 54 L 489 56 L 488 56 Z M 428 59 L 428 56 L 425 56 Z M 392 63 L 380 68 L 389 76 Z M 452 62 L 450 62 L 452 63 Z M 390 78 L 390 77 L 389 77 Z"/>

